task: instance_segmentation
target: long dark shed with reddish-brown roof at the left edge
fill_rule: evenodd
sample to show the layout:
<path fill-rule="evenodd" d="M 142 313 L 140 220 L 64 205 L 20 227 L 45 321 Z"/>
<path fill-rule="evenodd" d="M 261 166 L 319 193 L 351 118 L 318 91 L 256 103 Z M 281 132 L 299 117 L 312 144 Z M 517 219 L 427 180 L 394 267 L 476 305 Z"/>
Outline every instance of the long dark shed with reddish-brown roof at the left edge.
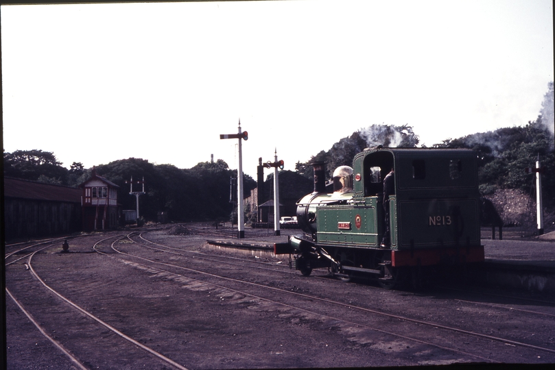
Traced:
<path fill-rule="evenodd" d="M 81 190 L 4 177 L 5 240 L 81 231 Z"/>

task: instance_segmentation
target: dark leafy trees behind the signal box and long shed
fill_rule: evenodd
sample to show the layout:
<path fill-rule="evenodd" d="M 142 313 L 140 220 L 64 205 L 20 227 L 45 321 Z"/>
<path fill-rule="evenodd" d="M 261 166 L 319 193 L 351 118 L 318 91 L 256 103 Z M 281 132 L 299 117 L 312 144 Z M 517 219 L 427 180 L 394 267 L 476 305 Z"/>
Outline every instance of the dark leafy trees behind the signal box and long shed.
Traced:
<path fill-rule="evenodd" d="M 54 153 L 40 150 L 4 152 L 4 175 L 25 180 L 78 187 L 91 178 L 92 169 L 81 163 L 62 167 Z M 148 160 L 128 158 L 95 167 L 97 175 L 119 186 L 118 201 L 123 209 L 134 210 L 136 197 L 130 195 L 126 180 L 145 178 L 145 195 L 139 197 L 139 212 L 147 220 L 156 220 L 158 212 L 168 212 L 172 221 L 229 219 L 230 178 L 237 171 L 223 160 L 201 162 L 191 169 L 172 164 L 152 164 Z M 244 175 L 244 193 L 256 187 L 255 180 Z M 138 188 L 133 190 L 137 191 Z"/>

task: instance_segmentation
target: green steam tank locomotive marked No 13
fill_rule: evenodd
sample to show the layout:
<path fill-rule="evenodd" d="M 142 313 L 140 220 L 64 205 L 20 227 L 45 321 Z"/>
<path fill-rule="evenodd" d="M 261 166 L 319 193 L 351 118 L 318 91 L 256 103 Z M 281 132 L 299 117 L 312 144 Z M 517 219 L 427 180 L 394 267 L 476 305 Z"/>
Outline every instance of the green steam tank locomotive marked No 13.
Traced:
<path fill-rule="evenodd" d="M 473 151 L 365 149 L 353 167 L 335 170 L 329 193 L 324 164 L 313 166 L 314 192 L 297 202 L 305 234 L 274 245 L 303 275 L 327 268 L 341 280 L 365 275 L 395 288 L 431 267 L 484 261 Z"/>

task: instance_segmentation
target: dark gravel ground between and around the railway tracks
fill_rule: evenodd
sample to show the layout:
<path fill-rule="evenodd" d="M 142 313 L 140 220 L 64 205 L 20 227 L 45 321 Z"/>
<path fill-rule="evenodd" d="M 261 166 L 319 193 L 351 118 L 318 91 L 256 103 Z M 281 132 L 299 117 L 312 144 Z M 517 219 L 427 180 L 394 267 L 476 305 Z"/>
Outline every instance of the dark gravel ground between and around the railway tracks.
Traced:
<path fill-rule="evenodd" d="M 226 238 L 222 234 L 187 234 L 187 227 L 184 232 L 175 231 L 159 232 L 156 240 L 189 251 L 201 251 L 206 250 L 204 246 L 207 238 Z M 298 230 L 281 230 L 281 236 L 273 236 L 272 230 L 246 230 L 244 241 L 270 244 L 285 242 L 287 234 L 296 233 Z M 116 233 L 93 238 L 99 240 L 110 234 Z M 391 367 L 476 361 L 469 356 L 453 355 L 449 351 L 357 328 L 356 325 L 331 318 L 335 314 L 347 319 L 351 313 L 345 313 L 344 309 L 329 310 L 330 318 L 327 319 L 310 313 L 300 314 L 281 304 L 220 288 L 212 282 L 192 280 L 191 277 L 196 275 L 183 271 L 178 272 L 180 275 L 170 275 L 152 267 L 122 263 L 110 258 L 112 255 L 92 253 L 92 244 L 91 238 L 75 238 L 70 242 L 70 253 L 60 253 L 61 248 L 49 249 L 34 258 L 33 267 L 47 284 L 75 304 L 189 369 Z M 129 242 L 119 243 L 119 248 L 138 251 Z M 108 251 L 108 245 L 103 245 L 102 250 Z M 112 254 L 115 256 L 114 252 Z M 149 251 L 148 254 L 163 259 L 161 253 Z M 272 260 L 268 259 L 268 262 Z M 447 312 L 467 314 L 457 310 L 458 304 L 453 304 L 452 298 L 436 293 L 422 295 L 384 291 L 364 284 L 307 279 L 301 277 L 298 271 L 292 271 L 290 275 L 275 272 L 257 275 L 249 269 L 219 269 L 215 273 L 229 270 L 254 281 L 263 280 L 265 284 L 341 297 L 353 304 L 371 302 L 379 310 L 401 314 L 414 311 L 412 314 L 417 317 L 436 319 L 438 322 L 449 321 L 449 317 L 458 320 L 458 316 L 451 316 Z M 99 327 L 83 314 L 75 314 L 75 310 L 53 294 L 45 293 L 45 289 L 29 277 L 23 260 L 8 266 L 6 275 L 7 288 L 29 309 L 49 335 L 68 351 L 77 354 L 86 368 L 172 369 L 136 345 Z M 10 297 L 7 297 L 6 303 L 8 369 L 77 369 L 38 332 Z M 321 309 L 321 305 L 316 302 L 309 301 L 305 305 L 307 309 Z M 495 317 L 499 328 L 509 321 L 513 326 L 521 325 L 497 313 L 482 315 L 480 312 L 487 313 L 485 309 L 468 311 L 469 314 L 477 314 L 483 320 L 484 327 Z M 464 319 L 467 317 L 462 316 Z M 376 325 L 387 328 L 395 323 L 388 320 L 377 322 Z M 536 323 L 529 326 L 534 325 Z M 537 325 L 541 327 L 541 321 Z M 480 323 L 477 323 L 479 326 Z M 553 340 L 549 339 L 552 323 L 546 323 L 541 330 L 543 332 L 535 335 L 545 337 L 545 341 Z M 407 334 L 410 335 L 410 332 Z M 432 337 L 434 335 L 430 334 Z M 449 336 L 445 340 L 458 341 L 458 338 Z M 460 345 L 467 347 L 464 351 L 473 351 L 471 344 Z M 545 362 L 545 358 L 539 358 L 543 354 L 537 355 L 521 349 L 515 351 L 503 343 L 493 343 L 491 348 L 474 349 L 484 356 L 495 356 L 499 350 L 508 351 L 506 358 L 509 362 Z M 510 355 L 510 351 L 514 353 Z"/>

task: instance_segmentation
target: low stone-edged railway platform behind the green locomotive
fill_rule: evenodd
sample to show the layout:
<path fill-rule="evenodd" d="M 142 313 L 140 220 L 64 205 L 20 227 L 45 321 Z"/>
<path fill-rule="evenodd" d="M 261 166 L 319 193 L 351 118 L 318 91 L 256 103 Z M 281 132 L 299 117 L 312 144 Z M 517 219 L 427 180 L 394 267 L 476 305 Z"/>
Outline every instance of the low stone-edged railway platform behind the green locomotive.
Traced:
<path fill-rule="evenodd" d="M 233 249 L 253 256 L 288 258 L 273 254 L 274 243 L 285 243 L 287 236 L 300 234 L 300 230 L 281 230 L 280 236 L 271 232 L 246 230 L 243 239 L 219 237 L 207 240 L 207 247 Z M 482 232 L 485 262 L 473 271 L 478 281 L 490 286 L 555 294 L 555 232 L 524 238 L 504 230 L 503 240 L 491 239 L 488 233 L 489 230 Z"/>

